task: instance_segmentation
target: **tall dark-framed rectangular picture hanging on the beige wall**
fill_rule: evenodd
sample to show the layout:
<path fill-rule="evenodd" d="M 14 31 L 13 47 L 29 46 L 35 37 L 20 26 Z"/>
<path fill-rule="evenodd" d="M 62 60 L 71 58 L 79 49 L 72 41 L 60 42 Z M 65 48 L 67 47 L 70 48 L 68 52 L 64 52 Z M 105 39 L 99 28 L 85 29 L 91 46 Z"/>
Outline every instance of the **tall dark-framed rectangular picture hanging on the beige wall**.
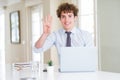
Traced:
<path fill-rule="evenodd" d="M 10 13 L 10 38 L 11 43 L 20 44 L 20 11 Z"/>

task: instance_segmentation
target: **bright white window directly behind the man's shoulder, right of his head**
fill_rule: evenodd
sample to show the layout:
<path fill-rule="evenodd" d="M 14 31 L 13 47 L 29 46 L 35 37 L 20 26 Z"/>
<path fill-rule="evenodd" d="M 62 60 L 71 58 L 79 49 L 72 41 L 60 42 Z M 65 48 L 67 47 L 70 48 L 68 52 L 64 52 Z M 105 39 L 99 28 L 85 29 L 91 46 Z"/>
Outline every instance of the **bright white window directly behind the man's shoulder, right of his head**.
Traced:
<path fill-rule="evenodd" d="M 95 38 L 95 0 L 78 0 L 79 21 L 78 25 L 82 30 L 90 32 Z M 96 44 L 96 42 L 95 42 Z"/>

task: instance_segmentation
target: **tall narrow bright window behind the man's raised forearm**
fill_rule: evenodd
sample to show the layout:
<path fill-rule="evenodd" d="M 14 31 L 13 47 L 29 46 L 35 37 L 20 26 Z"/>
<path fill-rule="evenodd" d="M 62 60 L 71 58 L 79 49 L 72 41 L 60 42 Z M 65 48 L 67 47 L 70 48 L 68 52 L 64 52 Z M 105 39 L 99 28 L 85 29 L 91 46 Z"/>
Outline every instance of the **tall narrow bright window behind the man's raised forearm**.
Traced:
<path fill-rule="evenodd" d="M 42 6 L 34 6 L 31 8 L 31 18 L 32 18 L 32 46 L 35 45 L 35 42 L 39 39 L 43 32 L 43 24 L 42 24 L 42 18 L 43 18 L 43 11 Z M 32 59 L 33 61 L 40 61 L 43 60 L 41 58 L 43 55 L 39 53 L 32 52 Z M 40 61 L 41 63 L 43 61 Z"/>

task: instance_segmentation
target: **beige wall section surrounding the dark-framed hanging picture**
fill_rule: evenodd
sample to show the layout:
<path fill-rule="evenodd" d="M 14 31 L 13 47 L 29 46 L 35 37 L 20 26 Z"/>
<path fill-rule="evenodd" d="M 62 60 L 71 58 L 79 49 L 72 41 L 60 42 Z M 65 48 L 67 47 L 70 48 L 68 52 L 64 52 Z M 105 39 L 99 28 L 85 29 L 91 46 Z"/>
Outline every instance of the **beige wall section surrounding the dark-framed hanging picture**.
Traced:
<path fill-rule="evenodd" d="M 21 43 L 20 44 L 11 44 L 10 40 L 10 13 L 13 11 L 20 11 L 20 31 L 21 31 Z M 26 11 L 24 8 L 24 3 L 20 2 L 14 5 L 7 6 L 6 10 L 6 28 L 5 28 L 5 52 L 6 52 L 6 63 L 13 63 L 19 61 L 25 61 L 25 44 L 22 42 L 25 41 L 26 37 Z"/>

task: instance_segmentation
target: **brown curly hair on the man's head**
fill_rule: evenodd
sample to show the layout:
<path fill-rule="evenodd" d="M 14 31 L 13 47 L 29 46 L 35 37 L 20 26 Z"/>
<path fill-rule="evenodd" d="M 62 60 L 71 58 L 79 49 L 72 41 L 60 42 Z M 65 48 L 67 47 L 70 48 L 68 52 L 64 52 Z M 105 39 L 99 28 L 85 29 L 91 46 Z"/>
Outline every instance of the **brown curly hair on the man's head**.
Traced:
<path fill-rule="evenodd" d="M 74 4 L 70 4 L 70 3 L 62 3 L 60 6 L 58 6 L 57 9 L 57 17 L 60 18 L 61 17 L 61 13 L 70 13 L 73 12 L 74 16 L 78 16 L 78 8 L 74 5 Z"/>

